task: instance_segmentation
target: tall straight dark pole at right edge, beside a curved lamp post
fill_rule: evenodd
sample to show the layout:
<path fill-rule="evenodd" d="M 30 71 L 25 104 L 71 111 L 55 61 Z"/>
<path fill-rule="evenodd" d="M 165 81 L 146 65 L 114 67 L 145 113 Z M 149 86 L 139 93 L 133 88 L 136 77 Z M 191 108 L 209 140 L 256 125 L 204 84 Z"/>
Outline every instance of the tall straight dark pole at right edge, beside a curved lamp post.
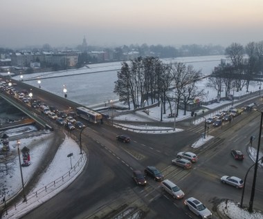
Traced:
<path fill-rule="evenodd" d="M 253 177 L 253 184 L 252 184 L 252 189 L 251 189 L 251 199 L 249 201 L 249 207 L 248 211 L 252 212 L 253 211 L 253 202 L 254 202 L 254 196 L 255 196 L 255 181 L 257 179 L 257 165 L 258 165 L 258 157 L 260 154 L 260 140 L 261 140 L 261 133 L 262 133 L 262 120 L 263 120 L 263 112 L 260 111 L 261 117 L 260 117 L 260 133 L 258 137 L 258 142 L 257 142 L 257 156 L 255 158 L 255 170 L 254 170 L 254 177 Z"/>

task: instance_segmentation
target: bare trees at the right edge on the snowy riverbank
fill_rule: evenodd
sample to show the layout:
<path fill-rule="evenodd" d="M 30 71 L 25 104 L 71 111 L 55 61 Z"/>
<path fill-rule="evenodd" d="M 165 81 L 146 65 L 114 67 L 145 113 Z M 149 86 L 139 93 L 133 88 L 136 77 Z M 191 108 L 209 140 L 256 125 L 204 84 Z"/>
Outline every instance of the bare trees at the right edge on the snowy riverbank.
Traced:
<path fill-rule="evenodd" d="M 238 92 L 242 91 L 244 86 L 248 92 L 251 81 L 263 78 L 263 41 L 250 42 L 245 47 L 233 43 L 226 48 L 226 55 L 230 62 L 221 62 L 213 71 L 213 77 L 210 77 L 206 84 L 214 88 L 220 97 L 223 88 L 226 96 L 231 89 Z"/>

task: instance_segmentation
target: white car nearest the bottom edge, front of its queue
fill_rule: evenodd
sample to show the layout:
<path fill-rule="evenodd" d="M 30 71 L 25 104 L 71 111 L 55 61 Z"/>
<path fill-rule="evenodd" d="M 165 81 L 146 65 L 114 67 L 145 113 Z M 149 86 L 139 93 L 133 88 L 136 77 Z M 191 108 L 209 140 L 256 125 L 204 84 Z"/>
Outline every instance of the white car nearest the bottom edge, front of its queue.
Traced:
<path fill-rule="evenodd" d="M 188 207 L 188 209 L 190 209 L 190 211 L 194 212 L 200 218 L 212 218 L 211 211 L 208 210 L 206 206 L 196 198 L 191 197 L 185 199 L 184 204 Z"/>

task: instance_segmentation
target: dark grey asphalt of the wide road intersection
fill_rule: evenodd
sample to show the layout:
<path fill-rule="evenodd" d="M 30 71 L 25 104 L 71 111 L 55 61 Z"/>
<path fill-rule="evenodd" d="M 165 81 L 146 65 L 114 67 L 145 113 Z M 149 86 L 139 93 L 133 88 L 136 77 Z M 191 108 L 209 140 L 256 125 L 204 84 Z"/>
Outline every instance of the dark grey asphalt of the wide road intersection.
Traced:
<path fill-rule="evenodd" d="M 46 99 L 47 98 L 47 99 Z M 43 100 L 68 108 L 62 99 Z M 116 142 L 120 129 L 107 124 L 89 124 L 82 133 L 83 149 L 89 151 L 89 164 L 82 174 L 64 191 L 48 200 L 23 218 L 113 218 L 127 207 L 136 207 L 143 218 L 197 218 L 184 207 L 183 200 L 172 200 L 163 193 L 160 183 L 147 178 L 146 187 L 137 187 L 131 179 L 131 170 L 154 165 L 165 178 L 172 180 L 185 192 L 185 198 L 201 200 L 217 218 L 215 207 L 225 198 L 240 200 L 242 189 L 221 184 L 222 175 L 244 178 L 253 162 L 246 155 L 249 137 L 258 135 L 260 113 L 243 113 L 231 123 L 218 128 L 210 127 L 213 140 L 199 149 L 191 149 L 203 132 L 203 124 L 190 125 L 180 133 L 143 134 L 129 133 L 131 142 Z M 185 122 L 183 123 L 185 126 Z M 179 125 L 179 124 L 177 124 Z M 126 131 L 122 131 L 126 133 Z M 78 139 L 80 131 L 73 131 Z M 255 143 L 255 142 L 254 142 Z M 253 143 L 253 144 L 254 144 Z M 230 149 L 245 153 L 243 162 L 230 156 Z M 190 170 L 172 166 L 171 160 L 179 151 L 190 150 L 199 155 L 199 161 Z M 251 193 L 252 174 L 248 174 L 244 204 Z M 254 207 L 263 203 L 262 169 L 258 169 Z"/>

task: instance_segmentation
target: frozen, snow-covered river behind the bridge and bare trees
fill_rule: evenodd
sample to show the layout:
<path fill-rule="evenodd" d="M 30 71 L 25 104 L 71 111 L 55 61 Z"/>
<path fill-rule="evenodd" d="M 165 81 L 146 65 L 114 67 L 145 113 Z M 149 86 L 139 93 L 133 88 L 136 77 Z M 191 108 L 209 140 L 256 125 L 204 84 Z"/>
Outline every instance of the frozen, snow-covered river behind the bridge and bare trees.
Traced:
<path fill-rule="evenodd" d="M 203 75 L 209 75 L 215 66 L 218 66 L 225 56 L 203 57 L 178 57 L 174 59 L 162 59 L 164 63 L 181 61 L 191 64 L 195 70 L 201 70 Z M 41 88 L 45 91 L 64 97 L 63 88 L 67 89 L 67 98 L 84 106 L 93 106 L 108 102 L 110 99 L 118 99 L 114 93 L 117 80 L 117 71 L 120 70 L 120 62 L 105 64 L 91 64 L 88 68 L 67 70 L 61 72 L 35 73 L 23 75 L 24 82 Z M 57 77 L 60 76 L 60 77 Z M 18 76 L 16 79 L 20 79 Z M 27 81 L 30 79 L 29 81 Z"/>

